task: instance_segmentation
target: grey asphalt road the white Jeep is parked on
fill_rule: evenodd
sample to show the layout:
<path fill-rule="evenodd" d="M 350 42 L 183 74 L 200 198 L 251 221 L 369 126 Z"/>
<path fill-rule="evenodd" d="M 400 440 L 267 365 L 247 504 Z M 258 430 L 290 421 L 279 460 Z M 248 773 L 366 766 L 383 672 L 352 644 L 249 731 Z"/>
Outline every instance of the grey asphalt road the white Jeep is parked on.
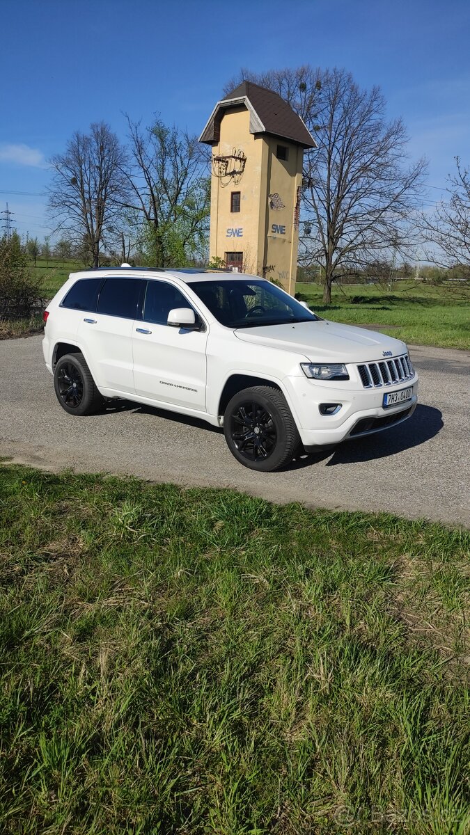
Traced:
<path fill-rule="evenodd" d="M 69 417 L 55 398 L 41 339 L 0 342 L 0 456 L 470 527 L 468 352 L 411 349 L 420 403 L 401 426 L 320 449 L 282 473 L 253 473 L 202 421 L 124 401 L 102 415 Z"/>

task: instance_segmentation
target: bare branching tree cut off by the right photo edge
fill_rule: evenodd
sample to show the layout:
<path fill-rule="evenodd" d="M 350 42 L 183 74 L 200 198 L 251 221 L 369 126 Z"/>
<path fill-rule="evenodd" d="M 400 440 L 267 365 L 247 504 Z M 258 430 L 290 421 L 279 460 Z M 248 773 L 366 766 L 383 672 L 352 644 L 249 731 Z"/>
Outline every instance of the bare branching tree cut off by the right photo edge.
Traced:
<path fill-rule="evenodd" d="M 431 248 L 429 261 L 452 267 L 457 277 L 470 279 L 470 171 L 455 158 L 457 173 L 447 177 L 447 200 L 437 203 L 432 215 L 422 215 Z"/>

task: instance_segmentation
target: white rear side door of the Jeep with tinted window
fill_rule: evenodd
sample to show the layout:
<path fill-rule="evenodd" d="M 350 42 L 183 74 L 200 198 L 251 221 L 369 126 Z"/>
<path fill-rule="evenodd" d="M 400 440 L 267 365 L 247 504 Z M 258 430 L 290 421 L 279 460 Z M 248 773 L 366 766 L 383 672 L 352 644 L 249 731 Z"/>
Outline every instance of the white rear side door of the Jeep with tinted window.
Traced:
<path fill-rule="evenodd" d="M 132 332 L 145 280 L 108 276 L 96 312 L 79 322 L 79 343 L 100 389 L 134 394 Z"/>

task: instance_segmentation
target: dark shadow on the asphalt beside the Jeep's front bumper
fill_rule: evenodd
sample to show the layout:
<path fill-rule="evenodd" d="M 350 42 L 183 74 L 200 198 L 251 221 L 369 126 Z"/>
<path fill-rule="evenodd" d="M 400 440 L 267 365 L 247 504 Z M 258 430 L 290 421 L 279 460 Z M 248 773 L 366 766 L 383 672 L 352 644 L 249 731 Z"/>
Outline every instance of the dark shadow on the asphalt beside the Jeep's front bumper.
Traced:
<path fill-rule="evenodd" d="M 399 423 L 385 432 L 352 438 L 338 445 L 326 466 L 374 461 L 378 458 L 397 455 L 434 438 L 443 425 L 442 412 L 439 409 L 419 403 L 412 417 L 405 423 Z"/>

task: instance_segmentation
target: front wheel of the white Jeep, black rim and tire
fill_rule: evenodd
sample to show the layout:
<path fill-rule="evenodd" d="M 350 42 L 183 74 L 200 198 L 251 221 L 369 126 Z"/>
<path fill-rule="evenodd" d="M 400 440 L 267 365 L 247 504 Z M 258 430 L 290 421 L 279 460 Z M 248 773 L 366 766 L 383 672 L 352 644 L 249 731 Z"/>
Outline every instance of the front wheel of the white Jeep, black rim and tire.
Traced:
<path fill-rule="evenodd" d="M 244 467 L 263 473 L 285 467 L 301 448 L 284 394 L 272 386 L 235 394 L 224 413 L 223 432 L 232 455 Z"/>

